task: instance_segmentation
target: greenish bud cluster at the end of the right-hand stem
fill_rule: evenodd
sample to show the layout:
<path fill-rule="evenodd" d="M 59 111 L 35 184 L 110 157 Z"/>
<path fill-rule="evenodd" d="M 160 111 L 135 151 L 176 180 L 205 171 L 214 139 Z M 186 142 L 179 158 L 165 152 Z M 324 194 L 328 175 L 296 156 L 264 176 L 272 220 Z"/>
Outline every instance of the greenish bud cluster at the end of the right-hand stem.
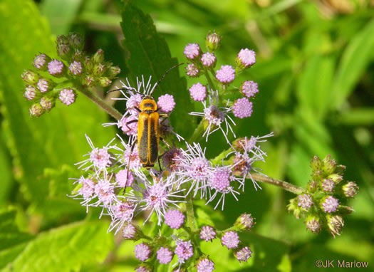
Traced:
<path fill-rule="evenodd" d="M 311 167 L 312 179 L 307 189 L 290 200 L 288 209 L 296 218 L 305 216 L 306 229 L 313 233 L 327 229 L 333 237 L 341 235 L 343 216 L 353 211 L 347 206 L 348 199 L 358 193 L 358 186 L 343 181 L 346 167 L 338 165 L 330 155 L 324 159 L 313 157 Z"/>

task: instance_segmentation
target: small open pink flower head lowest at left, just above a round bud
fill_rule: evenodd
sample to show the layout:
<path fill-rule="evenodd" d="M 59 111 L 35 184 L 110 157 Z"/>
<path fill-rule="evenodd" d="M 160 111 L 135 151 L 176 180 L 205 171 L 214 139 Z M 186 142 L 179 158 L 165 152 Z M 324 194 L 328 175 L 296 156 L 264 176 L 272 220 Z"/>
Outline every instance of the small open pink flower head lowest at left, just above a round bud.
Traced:
<path fill-rule="evenodd" d="M 133 219 L 135 205 L 131 202 L 117 202 L 109 208 L 109 215 L 112 217 L 112 222 L 109 226 L 109 231 L 115 230 L 115 234 L 123 227 L 123 224 L 130 222 Z"/>

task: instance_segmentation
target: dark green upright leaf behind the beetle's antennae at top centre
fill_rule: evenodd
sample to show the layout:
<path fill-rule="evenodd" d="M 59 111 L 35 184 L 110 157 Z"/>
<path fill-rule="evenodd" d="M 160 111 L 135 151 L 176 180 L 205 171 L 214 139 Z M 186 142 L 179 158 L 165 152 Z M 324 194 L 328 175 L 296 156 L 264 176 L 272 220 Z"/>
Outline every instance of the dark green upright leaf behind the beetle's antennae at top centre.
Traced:
<path fill-rule="evenodd" d="M 124 4 L 121 26 L 130 79 L 135 85 L 135 78 L 142 75 L 145 80 L 152 75 L 152 82 L 157 82 L 169 68 L 178 63 L 176 58 L 171 57 L 165 38 L 157 33 L 151 17 L 140 9 L 129 3 Z M 177 104 L 170 115 L 172 126 L 177 133 L 187 138 L 193 129 L 192 117 L 187 114 L 192 111 L 192 103 L 186 80 L 180 77 L 177 68 L 170 70 L 154 95 L 157 97 L 165 93 L 172 94 Z"/>

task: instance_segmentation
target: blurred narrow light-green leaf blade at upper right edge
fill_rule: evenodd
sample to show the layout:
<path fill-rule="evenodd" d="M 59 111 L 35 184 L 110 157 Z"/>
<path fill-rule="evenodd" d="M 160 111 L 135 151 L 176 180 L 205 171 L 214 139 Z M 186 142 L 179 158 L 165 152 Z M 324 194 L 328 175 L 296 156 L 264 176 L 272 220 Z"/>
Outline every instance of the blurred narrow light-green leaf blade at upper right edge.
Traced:
<path fill-rule="evenodd" d="M 373 60 L 374 20 L 358 32 L 343 53 L 333 85 L 333 107 L 338 109 L 353 91 L 366 66 Z"/>

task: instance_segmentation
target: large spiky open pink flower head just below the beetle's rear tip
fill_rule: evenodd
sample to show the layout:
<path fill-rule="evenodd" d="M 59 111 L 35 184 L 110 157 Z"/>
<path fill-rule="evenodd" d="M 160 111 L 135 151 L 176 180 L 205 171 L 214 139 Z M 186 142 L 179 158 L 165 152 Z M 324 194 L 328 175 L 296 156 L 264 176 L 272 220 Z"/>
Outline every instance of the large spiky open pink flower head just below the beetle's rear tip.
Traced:
<path fill-rule="evenodd" d="M 162 175 L 160 177 L 162 177 Z M 169 175 L 166 179 L 154 177 L 152 184 L 150 184 L 150 182 L 144 182 L 142 186 L 133 184 L 134 190 L 129 193 L 127 199 L 138 204 L 140 211 L 150 210 L 150 215 L 145 221 L 147 221 L 153 211 L 155 211 L 158 217 L 158 225 L 161 225 L 163 216 L 167 209 L 170 209 L 170 205 L 172 204 L 179 208 L 177 203 L 182 202 L 182 200 L 176 198 L 185 197 L 178 195 L 180 192 L 184 191 L 184 189 L 172 190 L 174 182 L 175 176 Z"/>

